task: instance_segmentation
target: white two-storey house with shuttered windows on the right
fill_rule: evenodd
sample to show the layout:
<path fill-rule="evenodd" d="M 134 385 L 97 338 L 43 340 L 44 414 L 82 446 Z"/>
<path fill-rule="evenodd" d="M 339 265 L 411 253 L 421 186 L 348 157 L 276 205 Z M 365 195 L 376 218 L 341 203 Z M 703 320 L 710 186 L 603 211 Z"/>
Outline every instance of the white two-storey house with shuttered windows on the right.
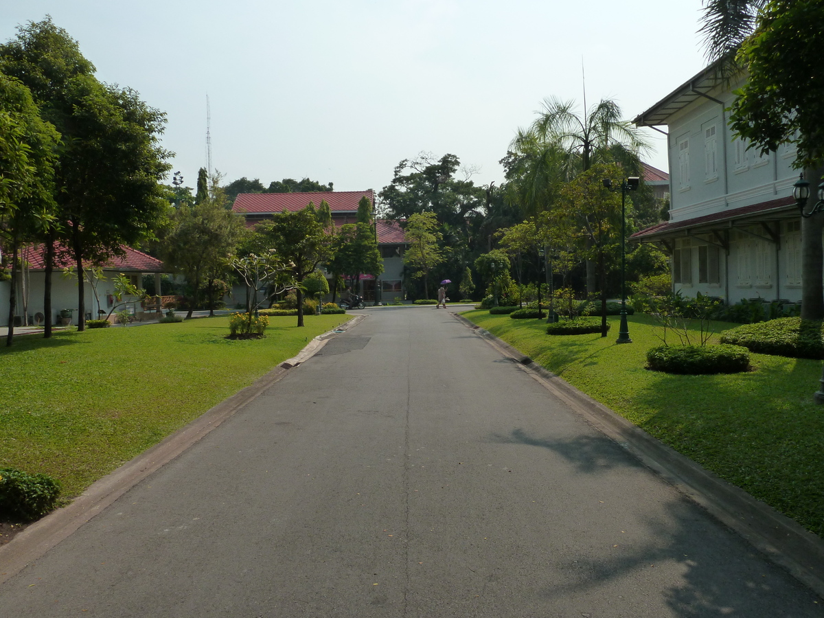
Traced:
<path fill-rule="evenodd" d="M 667 135 L 670 218 L 631 237 L 672 255 L 673 289 L 687 296 L 797 302 L 795 150 L 781 146 L 761 156 L 733 138 L 728 108 L 741 85 L 725 86 L 711 66 L 633 120 Z"/>

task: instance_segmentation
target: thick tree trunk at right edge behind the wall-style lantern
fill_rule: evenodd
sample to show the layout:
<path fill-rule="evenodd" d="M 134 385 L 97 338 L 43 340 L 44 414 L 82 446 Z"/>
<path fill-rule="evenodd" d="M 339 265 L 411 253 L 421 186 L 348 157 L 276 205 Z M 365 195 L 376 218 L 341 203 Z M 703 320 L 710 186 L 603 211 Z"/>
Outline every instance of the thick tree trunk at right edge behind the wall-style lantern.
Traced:
<path fill-rule="evenodd" d="M 818 184 L 822 181 L 822 172 L 824 168 L 804 170 L 805 180 L 810 183 L 808 208 L 818 201 Z M 817 213 L 801 220 L 802 320 L 824 319 L 822 230 L 824 230 L 824 213 Z"/>

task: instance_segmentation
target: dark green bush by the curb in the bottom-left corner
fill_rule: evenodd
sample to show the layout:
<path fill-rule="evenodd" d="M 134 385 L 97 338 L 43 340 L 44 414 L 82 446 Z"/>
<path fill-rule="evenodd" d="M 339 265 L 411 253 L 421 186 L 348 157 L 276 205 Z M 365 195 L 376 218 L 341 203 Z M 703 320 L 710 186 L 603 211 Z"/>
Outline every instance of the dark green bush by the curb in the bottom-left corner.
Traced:
<path fill-rule="evenodd" d="M 30 521 L 54 508 L 60 484 L 50 476 L 0 468 L 0 519 Z"/>

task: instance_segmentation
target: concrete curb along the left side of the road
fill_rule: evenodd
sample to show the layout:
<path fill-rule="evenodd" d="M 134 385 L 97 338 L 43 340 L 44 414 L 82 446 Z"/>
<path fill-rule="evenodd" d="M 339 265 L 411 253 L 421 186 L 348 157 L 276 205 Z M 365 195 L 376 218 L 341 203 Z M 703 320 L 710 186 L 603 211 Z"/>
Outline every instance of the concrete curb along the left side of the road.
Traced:
<path fill-rule="evenodd" d="M 355 316 L 338 327 L 345 331 L 362 321 L 366 316 Z M 194 445 L 207 433 L 217 428 L 224 420 L 232 417 L 237 410 L 254 400 L 275 382 L 283 378 L 288 369 L 297 367 L 311 358 L 337 334 L 335 331 L 318 335 L 301 350 L 297 356 L 279 363 L 277 367 L 246 386 L 235 395 L 222 400 L 190 424 L 158 442 L 155 446 L 127 461 L 117 470 L 91 484 L 68 506 L 49 513 L 26 530 L 15 536 L 7 545 L 0 546 L 0 584 L 19 573 L 55 545 L 71 535 L 77 528 L 91 520 L 103 509 L 114 503 L 134 485 L 147 478 L 154 471 L 175 459 Z"/>

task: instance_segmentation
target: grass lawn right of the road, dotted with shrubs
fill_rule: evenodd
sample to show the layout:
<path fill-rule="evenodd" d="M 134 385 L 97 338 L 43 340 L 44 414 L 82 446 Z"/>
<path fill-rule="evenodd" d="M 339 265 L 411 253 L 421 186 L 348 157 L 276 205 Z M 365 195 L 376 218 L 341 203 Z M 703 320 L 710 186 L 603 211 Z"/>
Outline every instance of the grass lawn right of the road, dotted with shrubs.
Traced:
<path fill-rule="evenodd" d="M 712 376 L 644 368 L 661 344 L 648 316 L 628 318 L 631 344 L 550 336 L 545 323 L 463 314 L 678 452 L 824 536 L 824 406 L 812 402 L 822 362 L 751 353 L 753 370 Z M 714 323 L 720 332 L 737 325 Z M 672 343 L 672 335 L 668 340 Z M 717 335 L 714 337 L 717 343 Z M 677 341 L 676 341 L 677 343 Z"/>

